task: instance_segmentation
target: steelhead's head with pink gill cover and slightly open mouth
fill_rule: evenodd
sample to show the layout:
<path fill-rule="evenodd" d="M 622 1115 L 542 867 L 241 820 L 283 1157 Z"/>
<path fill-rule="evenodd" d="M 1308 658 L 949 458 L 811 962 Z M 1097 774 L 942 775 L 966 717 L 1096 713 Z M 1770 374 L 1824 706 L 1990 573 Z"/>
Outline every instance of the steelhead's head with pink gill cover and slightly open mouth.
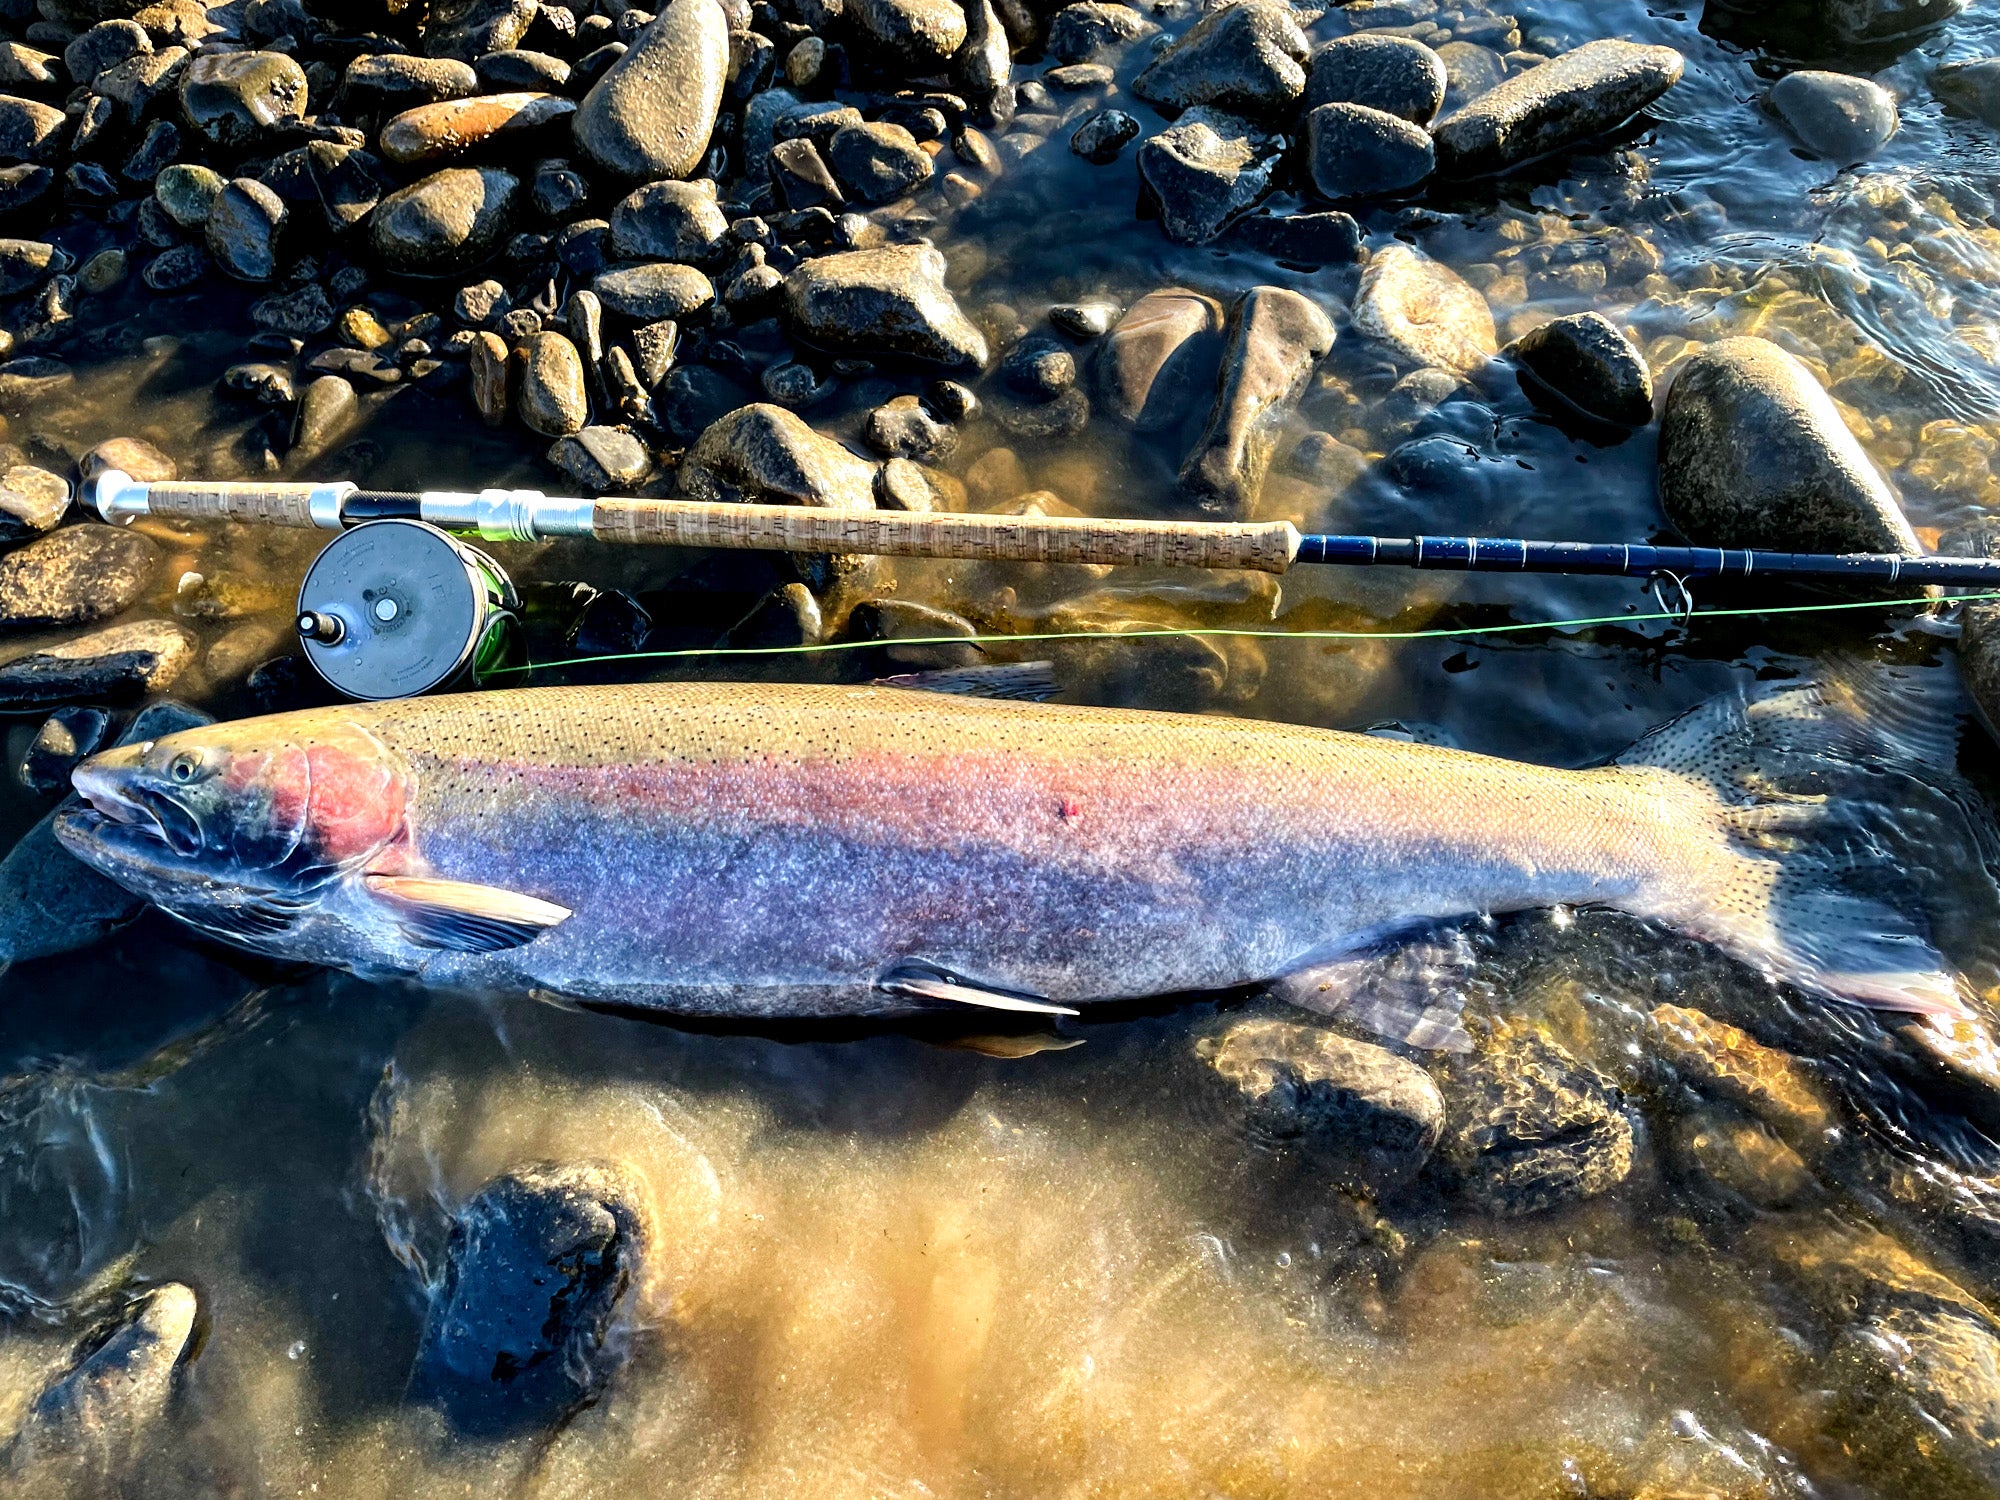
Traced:
<path fill-rule="evenodd" d="M 92 756 L 56 836 L 196 926 L 266 938 L 404 838 L 406 772 L 336 712 L 276 714 Z"/>

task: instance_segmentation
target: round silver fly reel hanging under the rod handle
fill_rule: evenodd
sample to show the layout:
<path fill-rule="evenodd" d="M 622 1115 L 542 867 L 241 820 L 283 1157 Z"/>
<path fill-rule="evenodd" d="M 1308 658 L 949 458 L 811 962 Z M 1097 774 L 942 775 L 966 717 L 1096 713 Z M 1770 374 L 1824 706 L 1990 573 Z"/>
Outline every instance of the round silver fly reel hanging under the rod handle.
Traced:
<path fill-rule="evenodd" d="M 306 660 L 348 698 L 410 698 L 500 666 L 520 640 L 500 564 L 420 520 L 340 532 L 298 588 Z"/>

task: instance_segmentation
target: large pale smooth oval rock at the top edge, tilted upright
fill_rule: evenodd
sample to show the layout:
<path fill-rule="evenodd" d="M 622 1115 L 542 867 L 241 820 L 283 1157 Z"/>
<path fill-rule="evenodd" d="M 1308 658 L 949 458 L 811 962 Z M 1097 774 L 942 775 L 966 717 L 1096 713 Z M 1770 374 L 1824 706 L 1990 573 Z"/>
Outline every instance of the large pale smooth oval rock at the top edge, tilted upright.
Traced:
<path fill-rule="evenodd" d="M 730 66 L 716 0 L 674 0 L 584 96 L 576 148 L 622 178 L 684 178 L 708 154 Z"/>

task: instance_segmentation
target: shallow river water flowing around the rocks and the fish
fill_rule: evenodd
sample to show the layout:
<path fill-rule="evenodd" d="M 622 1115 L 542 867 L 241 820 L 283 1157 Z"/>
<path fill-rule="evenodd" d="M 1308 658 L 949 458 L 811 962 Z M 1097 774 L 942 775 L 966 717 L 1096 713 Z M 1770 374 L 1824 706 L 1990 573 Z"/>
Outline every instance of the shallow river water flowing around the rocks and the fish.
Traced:
<path fill-rule="evenodd" d="M 1942 60 L 1994 52 L 2000 8 L 1978 4 L 1906 50 L 1834 60 L 1880 68 L 1908 94 L 1902 132 L 1860 172 L 1790 146 L 1758 106 L 1788 54 L 1748 48 L 1698 6 L 1512 12 L 1544 52 L 1666 42 L 1688 74 L 1622 140 L 1498 190 L 1378 210 L 1370 242 L 1400 236 L 1458 268 L 1486 290 L 1502 338 L 1596 308 L 1634 332 L 1660 386 L 1692 348 L 1760 332 L 1866 424 L 1926 540 L 2000 504 L 2000 138 L 1946 116 L 1922 82 Z M 1336 12 L 1314 36 L 1340 28 Z M 1128 58 L 1120 82 L 1132 70 Z M 1146 106 L 1116 102 L 1150 128 Z M 992 328 L 1174 282 L 1222 296 L 1300 286 L 1342 308 L 1352 296 L 1352 268 L 1168 244 L 1134 222 L 1132 154 L 1086 168 L 1064 134 L 940 224 L 954 286 Z M 58 238 L 82 258 L 106 234 L 76 222 Z M 214 394 L 242 358 L 248 300 L 206 282 L 88 302 L 102 334 L 68 350 L 76 386 L 10 414 L 8 436 L 30 454 L 144 436 L 190 474 L 256 472 L 258 430 Z M 1450 464 L 1398 470 L 1402 482 L 1376 464 L 1328 492 L 1288 474 L 1280 450 L 1260 514 L 1382 534 L 1660 530 L 1654 430 L 1600 446 L 1494 376 L 1392 432 L 1392 378 L 1342 320 L 1296 430 L 1334 432 L 1370 460 L 1432 434 Z M 886 394 L 920 384 L 848 384 L 812 420 L 852 436 Z M 482 430 L 458 392 L 366 400 L 358 440 L 314 472 L 378 488 L 560 488 L 522 434 Z M 1186 436 L 1126 442 L 1094 424 L 1072 444 L 1018 446 L 1022 472 L 992 500 L 1052 490 L 1088 514 L 1166 514 Z M 954 468 L 976 474 L 1000 444 L 974 428 Z M 208 644 L 244 628 L 276 640 L 312 548 L 190 532 L 162 578 L 172 588 L 200 570 L 262 590 L 244 616 L 194 624 Z M 770 560 L 586 546 L 502 556 L 522 582 L 672 596 L 688 640 L 788 576 Z M 894 578 L 900 598 L 992 628 L 1462 630 L 1654 610 L 1640 584 L 1612 580 L 1300 570 L 1274 594 L 946 564 Z M 1952 632 L 1852 612 L 1214 650 L 1222 660 L 1192 668 L 1178 648 L 1140 646 L 1062 666 L 1080 700 L 1396 720 L 1472 750 L 1588 764 L 1732 684 L 1834 658 L 1948 672 Z M 178 692 L 222 714 L 258 706 L 242 670 L 210 666 Z M 1974 732 L 1962 768 L 1990 788 L 1992 760 Z M 8 782 L 0 838 L 44 810 Z M 1946 854 L 1904 850 L 1942 946 L 1990 996 L 1990 888 Z M 1832 1102 L 1794 1192 L 1752 1206 L 1704 1176 L 1686 1132 L 1732 1116 L 1662 1052 L 1660 1004 L 1794 1054 Z M 1632 1130 L 1632 1170 L 1600 1196 L 1498 1216 L 1430 1178 L 1380 1196 L 1344 1188 L 1248 1130 L 1198 1044 L 1264 1008 L 1122 1010 L 1066 1024 L 1082 1046 L 1002 1058 L 894 1028 L 742 1036 L 426 996 L 286 970 L 148 916 L 0 976 L 0 1430 L 122 1288 L 182 1280 L 200 1296 L 198 1350 L 126 1494 L 1664 1500 L 1996 1486 L 2000 1404 L 1982 1408 L 1976 1444 L 1884 1396 L 1880 1368 L 1926 1356 L 1880 1354 L 1904 1326 L 1884 1320 L 1882 1294 L 1852 1290 L 1904 1288 L 1896 1306 L 1972 1320 L 2000 1292 L 1994 1124 L 1912 1068 L 1886 1024 L 1782 996 L 1634 922 L 1506 924 L 1482 938 L 1476 1030 L 1546 1038 L 1602 1076 Z M 558 1430 L 452 1432 L 404 1398 L 446 1218 L 494 1174 L 542 1160 L 612 1160 L 642 1184 L 654 1254 L 614 1330 L 624 1362 Z M 1870 1256 L 1872 1280 L 1826 1272 Z M 1964 1302 L 1924 1280 L 1940 1276 Z M 1956 1390 L 2000 1402 L 2000 1376 Z"/>

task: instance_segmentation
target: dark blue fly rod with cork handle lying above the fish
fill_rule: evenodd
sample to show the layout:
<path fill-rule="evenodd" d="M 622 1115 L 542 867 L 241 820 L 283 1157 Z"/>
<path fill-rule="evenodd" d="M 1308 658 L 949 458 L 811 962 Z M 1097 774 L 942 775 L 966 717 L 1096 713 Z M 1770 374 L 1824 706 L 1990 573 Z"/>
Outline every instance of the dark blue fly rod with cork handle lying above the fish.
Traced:
<path fill-rule="evenodd" d="M 350 482 L 166 480 L 118 470 L 84 490 L 112 524 L 142 516 L 346 530 L 420 520 L 484 542 L 586 536 L 598 542 L 774 552 L 974 558 L 996 562 L 1252 568 L 1374 564 L 1450 572 L 1552 572 L 1654 578 L 1820 578 L 2000 588 L 2000 558 L 1894 552 L 1766 552 L 1642 542 L 1528 542 L 1498 536 L 1300 534 L 1290 522 L 1094 520 L 904 510 L 822 510 L 708 500 L 566 498 L 540 490 L 364 490 Z"/>

